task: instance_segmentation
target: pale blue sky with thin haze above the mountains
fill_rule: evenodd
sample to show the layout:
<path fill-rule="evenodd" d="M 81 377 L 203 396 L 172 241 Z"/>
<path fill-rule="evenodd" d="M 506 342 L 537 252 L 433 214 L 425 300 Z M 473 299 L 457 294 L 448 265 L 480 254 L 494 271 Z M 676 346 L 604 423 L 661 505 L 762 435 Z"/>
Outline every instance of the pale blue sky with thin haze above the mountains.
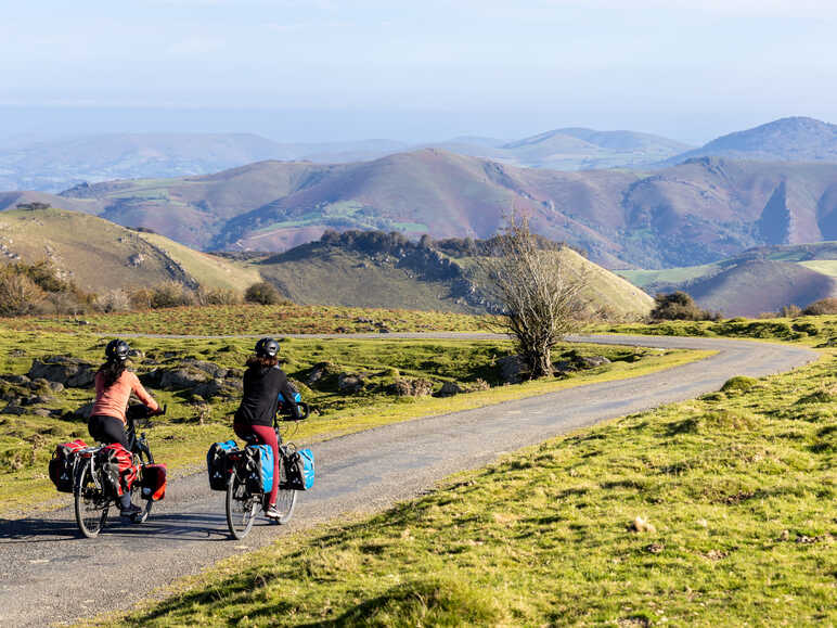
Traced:
<path fill-rule="evenodd" d="M 0 120 L 7 133 L 33 130 L 26 111 L 43 105 L 145 111 L 103 130 L 192 118 L 184 130 L 289 141 L 589 126 L 697 143 L 786 115 L 837 121 L 829 0 L 4 4 L 0 105 L 20 127 Z"/>

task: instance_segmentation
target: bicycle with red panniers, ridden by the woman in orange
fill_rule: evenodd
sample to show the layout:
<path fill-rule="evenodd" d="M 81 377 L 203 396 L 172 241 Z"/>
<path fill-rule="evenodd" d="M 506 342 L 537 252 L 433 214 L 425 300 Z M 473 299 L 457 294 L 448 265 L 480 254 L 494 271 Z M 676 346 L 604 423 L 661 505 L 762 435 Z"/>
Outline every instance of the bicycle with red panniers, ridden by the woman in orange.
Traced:
<path fill-rule="evenodd" d="M 165 414 L 167 407 L 163 408 L 160 414 Z M 145 433 L 137 436 L 137 421 L 144 421 L 149 424 L 151 414 L 149 409 L 142 405 L 134 405 L 128 408 L 126 412 L 126 435 L 128 436 L 128 451 L 133 456 L 133 464 L 140 470 L 145 464 L 154 464 L 154 456 L 149 447 Z M 99 535 L 107 521 L 107 514 L 111 505 L 118 507 L 118 496 L 106 489 L 106 482 L 103 477 L 103 470 L 96 464 L 96 453 L 104 449 L 106 445 L 100 444 L 95 447 L 86 447 L 78 451 L 78 462 L 75 470 L 75 482 L 73 487 L 73 500 L 76 512 L 76 523 L 81 534 L 92 539 Z M 143 491 L 141 477 L 138 476 L 131 487 L 131 500 L 140 497 L 145 500 L 142 511 L 131 515 L 132 523 L 144 523 L 151 514 L 154 501 L 151 496 Z"/>

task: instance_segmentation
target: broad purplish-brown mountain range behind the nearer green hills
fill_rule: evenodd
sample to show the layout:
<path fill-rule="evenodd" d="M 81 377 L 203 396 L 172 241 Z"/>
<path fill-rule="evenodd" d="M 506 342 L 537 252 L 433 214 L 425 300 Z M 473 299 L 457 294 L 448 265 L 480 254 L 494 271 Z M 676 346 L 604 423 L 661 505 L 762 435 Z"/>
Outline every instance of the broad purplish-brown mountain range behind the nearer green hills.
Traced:
<path fill-rule="evenodd" d="M 0 193 L 145 227 L 202 249 L 285 251 L 325 229 L 493 235 L 512 208 L 608 268 L 706 264 L 837 240 L 837 164 L 701 157 L 651 175 L 517 168 L 436 149 L 373 162 L 260 162 L 209 176 Z"/>

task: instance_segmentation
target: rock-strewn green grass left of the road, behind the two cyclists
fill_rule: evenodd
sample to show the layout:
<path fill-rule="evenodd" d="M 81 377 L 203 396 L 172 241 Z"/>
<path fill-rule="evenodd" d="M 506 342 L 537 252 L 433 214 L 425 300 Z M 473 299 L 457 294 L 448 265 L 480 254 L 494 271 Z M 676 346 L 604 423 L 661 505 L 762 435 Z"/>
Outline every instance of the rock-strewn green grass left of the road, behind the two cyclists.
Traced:
<path fill-rule="evenodd" d="M 35 358 L 69 355 L 90 363 L 101 361 L 107 336 L 3 330 L 0 338 L 0 373 L 24 374 Z M 154 368 L 172 367 L 183 358 L 206 360 L 224 368 L 241 368 L 252 353 L 253 339 L 177 339 L 136 338 L 133 348 L 145 355 L 134 364 L 142 374 Z M 657 351 L 632 347 L 574 345 L 585 355 L 604 355 L 611 364 L 580 372 L 568 379 L 545 380 L 516 386 L 500 386 L 498 358 L 512 350 L 511 342 L 501 341 L 351 341 L 287 339 L 282 343 L 283 368 L 298 382 L 313 415 L 299 425 L 295 438 L 305 441 L 358 432 L 376 425 L 407 421 L 417 416 L 443 414 L 497 403 L 593 381 L 639 375 L 691 361 L 706 354 Z M 567 348 L 567 347 L 564 347 Z M 555 359 L 561 359 L 561 348 Z M 364 377 L 362 390 L 340 393 L 333 380 L 309 388 L 305 385 L 310 368 L 319 362 L 333 364 L 333 373 L 359 373 Z M 396 379 L 425 379 L 434 389 L 448 381 L 476 387 L 477 380 L 490 389 L 458 395 L 452 398 L 397 397 L 387 390 Z M 9 384 L 0 382 L 3 389 Z M 185 392 L 152 389 L 163 403 L 168 403 L 165 419 L 155 419 L 149 438 L 155 458 L 169 469 L 182 472 L 201 466 L 208 446 L 226 440 L 231 433 L 231 414 L 237 396 L 217 397 L 208 407 Z M 20 396 L 27 397 L 24 392 Z M 0 414 L 0 510 L 31 508 L 55 497 L 46 470 L 55 445 L 73 438 L 89 439 L 85 421 L 67 413 L 93 398 L 91 388 L 67 388 L 52 395 L 54 399 L 37 407 L 60 411 L 59 416 Z M 4 402 L 3 402 L 4 406 Z M 203 415 L 203 424 L 201 423 Z M 66 418 L 65 418 L 66 416 Z"/>

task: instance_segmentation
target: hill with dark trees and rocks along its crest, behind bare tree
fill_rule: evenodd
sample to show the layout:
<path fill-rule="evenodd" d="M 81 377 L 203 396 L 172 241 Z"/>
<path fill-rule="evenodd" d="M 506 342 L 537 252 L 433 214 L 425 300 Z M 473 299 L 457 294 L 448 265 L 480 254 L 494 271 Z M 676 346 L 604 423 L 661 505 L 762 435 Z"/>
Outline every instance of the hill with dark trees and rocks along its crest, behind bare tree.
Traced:
<path fill-rule="evenodd" d="M 349 242 L 355 240 L 355 243 Z M 257 264 L 261 274 L 300 304 L 499 311 L 473 254 L 450 251 L 451 242 L 423 246 L 385 233 L 312 242 Z M 563 247 L 556 255 L 571 271 L 584 273 L 591 310 L 613 320 L 638 320 L 653 299 L 620 277 Z"/>

